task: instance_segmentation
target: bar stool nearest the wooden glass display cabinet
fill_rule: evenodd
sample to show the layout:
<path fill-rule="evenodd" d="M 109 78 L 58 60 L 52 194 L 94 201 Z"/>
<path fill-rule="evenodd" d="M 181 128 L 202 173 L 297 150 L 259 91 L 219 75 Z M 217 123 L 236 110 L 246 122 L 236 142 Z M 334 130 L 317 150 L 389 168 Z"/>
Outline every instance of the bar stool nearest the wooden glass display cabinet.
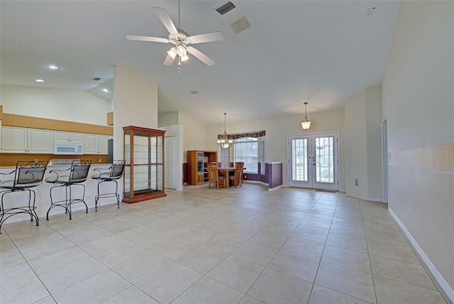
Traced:
<path fill-rule="evenodd" d="M 92 179 L 98 180 L 98 195 L 94 197 L 94 211 L 98 211 L 98 200 L 100 198 L 107 198 L 107 197 L 116 197 L 116 205 L 118 208 L 120 207 L 120 195 L 118 194 L 118 183 L 119 180 L 123 176 L 123 170 L 125 168 L 126 161 L 112 161 L 112 165 L 109 168 L 94 168 L 95 171 L 98 171 L 99 174 L 93 175 Z M 101 170 L 104 170 L 102 172 Z M 109 170 L 109 171 L 107 171 Z M 115 182 L 115 192 L 109 193 L 99 193 L 99 186 L 105 182 Z"/>

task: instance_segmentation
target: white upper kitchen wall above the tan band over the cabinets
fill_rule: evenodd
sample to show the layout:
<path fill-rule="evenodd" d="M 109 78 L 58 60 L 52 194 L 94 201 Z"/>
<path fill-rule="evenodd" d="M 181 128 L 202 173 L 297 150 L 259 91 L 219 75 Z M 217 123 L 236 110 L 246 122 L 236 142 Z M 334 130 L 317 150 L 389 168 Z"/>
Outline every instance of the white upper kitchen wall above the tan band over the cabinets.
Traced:
<path fill-rule="evenodd" d="M 106 126 L 111 102 L 90 92 L 18 85 L 0 86 L 4 113 Z"/>

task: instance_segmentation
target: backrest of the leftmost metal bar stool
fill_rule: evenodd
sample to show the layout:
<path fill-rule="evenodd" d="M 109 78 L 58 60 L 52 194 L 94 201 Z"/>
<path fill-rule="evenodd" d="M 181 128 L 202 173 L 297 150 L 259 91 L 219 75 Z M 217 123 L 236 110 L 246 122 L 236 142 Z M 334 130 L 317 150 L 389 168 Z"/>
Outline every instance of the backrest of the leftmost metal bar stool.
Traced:
<path fill-rule="evenodd" d="M 47 161 L 18 161 L 13 188 L 35 186 L 43 181 Z"/>

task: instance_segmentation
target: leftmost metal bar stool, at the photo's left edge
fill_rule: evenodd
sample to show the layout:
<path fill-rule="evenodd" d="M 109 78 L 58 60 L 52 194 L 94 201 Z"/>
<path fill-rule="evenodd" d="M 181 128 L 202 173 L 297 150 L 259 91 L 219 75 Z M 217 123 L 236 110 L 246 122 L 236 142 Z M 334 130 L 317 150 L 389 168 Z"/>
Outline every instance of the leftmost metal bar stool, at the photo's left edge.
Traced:
<path fill-rule="evenodd" d="M 35 218 L 36 226 L 39 226 L 38 215 L 36 215 L 35 212 L 36 193 L 31 188 L 41 185 L 47 166 L 47 161 L 18 161 L 16 163 L 15 170 L 11 171 L 10 173 L 0 173 L 1 175 L 10 175 L 14 173 L 13 180 L 4 180 L 3 182 L 0 182 L 0 234 L 1 224 L 3 224 L 6 219 L 9 219 L 9 217 L 12 217 L 13 215 L 19 215 L 21 213 L 28 213 L 30 215 L 31 222 L 33 222 L 33 218 Z M 19 191 L 28 191 L 28 206 L 5 208 L 4 195 L 6 195 L 7 193 Z M 16 204 L 16 201 L 14 201 L 14 204 Z"/>

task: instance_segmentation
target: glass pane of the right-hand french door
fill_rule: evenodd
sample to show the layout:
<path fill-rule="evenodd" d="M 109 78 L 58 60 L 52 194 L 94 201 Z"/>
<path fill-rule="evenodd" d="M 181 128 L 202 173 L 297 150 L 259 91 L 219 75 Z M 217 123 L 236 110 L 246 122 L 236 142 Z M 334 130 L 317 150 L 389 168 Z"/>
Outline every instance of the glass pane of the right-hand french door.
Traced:
<path fill-rule="evenodd" d="M 316 183 L 334 183 L 333 139 L 331 136 L 315 139 Z"/>

